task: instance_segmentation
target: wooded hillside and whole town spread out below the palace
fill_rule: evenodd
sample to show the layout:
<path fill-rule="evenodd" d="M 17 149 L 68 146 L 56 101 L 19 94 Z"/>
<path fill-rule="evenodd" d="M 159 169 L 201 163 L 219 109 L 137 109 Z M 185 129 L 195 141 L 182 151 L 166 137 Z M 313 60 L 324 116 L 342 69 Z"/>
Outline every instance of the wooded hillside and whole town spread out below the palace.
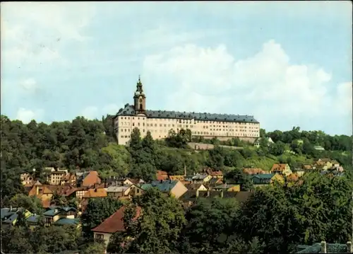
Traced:
<path fill-rule="evenodd" d="M 111 118 L 1 115 L 5 253 L 352 248 L 352 137 L 261 129 L 251 144 L 134 129 L 120 146 Z"/>

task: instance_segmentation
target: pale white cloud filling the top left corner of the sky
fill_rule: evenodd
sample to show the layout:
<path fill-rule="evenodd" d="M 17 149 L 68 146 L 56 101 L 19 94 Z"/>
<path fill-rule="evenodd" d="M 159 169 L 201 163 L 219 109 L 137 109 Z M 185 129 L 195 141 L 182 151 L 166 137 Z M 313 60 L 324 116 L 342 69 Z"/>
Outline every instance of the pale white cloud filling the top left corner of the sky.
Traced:
<path fill-rule="evenodd" d="M 23 68 L 61 59 L 67 42 L 86 39 L 81 29 L 94 10 L 89 3 L 1 4 L 1 61 Z"/>

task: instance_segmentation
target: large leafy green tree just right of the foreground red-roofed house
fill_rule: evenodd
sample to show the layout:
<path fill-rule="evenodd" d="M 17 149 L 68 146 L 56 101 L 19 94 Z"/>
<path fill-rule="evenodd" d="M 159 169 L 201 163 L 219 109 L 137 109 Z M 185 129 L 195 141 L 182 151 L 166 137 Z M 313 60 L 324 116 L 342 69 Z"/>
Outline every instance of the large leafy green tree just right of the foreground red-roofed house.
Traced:
<path fill-rule="evenodd" d="M 133 239 L 126 252 L 171 253 L 186 224 L 184 210 L 179 201 L 174 197 L 164 197 L 162 192 L 151 188 L 137 197 L 134 203 L 128 206 L 124 216 L 124 238 L 128 236 Z M 142 213 L 138 219 L 133 220 L 136 206 L 141 207 Z"/>

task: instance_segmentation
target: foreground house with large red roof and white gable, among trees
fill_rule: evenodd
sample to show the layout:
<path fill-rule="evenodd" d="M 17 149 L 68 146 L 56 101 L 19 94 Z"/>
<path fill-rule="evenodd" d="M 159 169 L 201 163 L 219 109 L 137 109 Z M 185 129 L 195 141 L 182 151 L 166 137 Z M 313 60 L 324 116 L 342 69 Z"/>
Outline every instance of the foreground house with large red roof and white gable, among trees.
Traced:
<path fill-rule="evenodd" d="M 104 240 L 105 246 L 107 248 L 109 244 L 110 237 L 116 232 L 124 232 L 126 230 L 124 225 L 124 214 L 126 207 L 120 207 L 114 214 L 105 219 L 102 224 L 96 226 L 93 231 L 95 239 Z M 135 219 L 138 219 L 141 215 L 141 208 L 136 207 L 136 216 Z M 107 253 L 107 252 L 105 252 Z"/>

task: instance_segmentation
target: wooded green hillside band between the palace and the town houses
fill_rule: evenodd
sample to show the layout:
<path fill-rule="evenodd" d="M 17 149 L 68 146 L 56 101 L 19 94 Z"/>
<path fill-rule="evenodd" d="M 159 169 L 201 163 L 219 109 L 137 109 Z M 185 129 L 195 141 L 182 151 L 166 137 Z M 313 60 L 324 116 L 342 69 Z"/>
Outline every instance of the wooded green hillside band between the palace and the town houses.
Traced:
<path fill-rule="evenodd" d="M 102 178 L 128 175 L 145 180 L 152 180 L 157 170 L 182 174 L 184 166 L 189 174 L 201 171 L 205 166 L 231 173 L 243 167 L 269 170 L 276 162 L 300 166 L 323 157 L 335 159 L 345 168 L 352 167 L 352 137 L 300 131 L 299 127 L 268 133 L 261 129 L 261 137 L 271 137 L 275 144 L 268 146 L 263 139 L 261 147 L 255 149 L 239 139 L 227 142 L 195 140 L 189 130 L 179 134 L 169 132 L 166 140 L 154 141 L 150 134 L 141 139 L 138 129 L 134 129 L 131 144 L 126 147 L 116 145 L 112 116 L 109 115 L 102 120 L 76 117 L 72 122 L 52 122 L 50 125 L 35 120 L 25 125 L 1 115 L 1 186 L 4 186 L 1 198 L 13 197 L 21 188 L 20 173 L 32 172 L 32 168 L 36 168 L 37 178 L 44 181 L 44 167 L 95 170 Z M 193 151 L 187 146 L 191 139 L 213 143 L 215 149 Z M 303 143 L 299 144 L 298 139 Z M 244 149 L 226 149 L 217 144 L 243 146 Z M 316 151 L 315 145 L 325 147 L 326 151 Z"/>

